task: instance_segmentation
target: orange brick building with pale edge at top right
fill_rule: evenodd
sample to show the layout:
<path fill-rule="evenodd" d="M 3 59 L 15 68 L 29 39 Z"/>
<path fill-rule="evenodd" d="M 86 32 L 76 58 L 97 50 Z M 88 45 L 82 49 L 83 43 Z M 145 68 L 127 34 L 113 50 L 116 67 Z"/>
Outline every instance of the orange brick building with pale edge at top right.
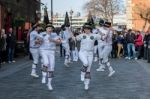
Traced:
<path fill-rule="evenodd" d="M 142 30 L 145 21 L 135 12 L 137 5 L 144 5 L 144 9 L 150 8 L 150 0 L 126 0 L 127 10 L 127 28 Z M 145 31 L 148 29 L 149 24 L 146 25 Z"/>

